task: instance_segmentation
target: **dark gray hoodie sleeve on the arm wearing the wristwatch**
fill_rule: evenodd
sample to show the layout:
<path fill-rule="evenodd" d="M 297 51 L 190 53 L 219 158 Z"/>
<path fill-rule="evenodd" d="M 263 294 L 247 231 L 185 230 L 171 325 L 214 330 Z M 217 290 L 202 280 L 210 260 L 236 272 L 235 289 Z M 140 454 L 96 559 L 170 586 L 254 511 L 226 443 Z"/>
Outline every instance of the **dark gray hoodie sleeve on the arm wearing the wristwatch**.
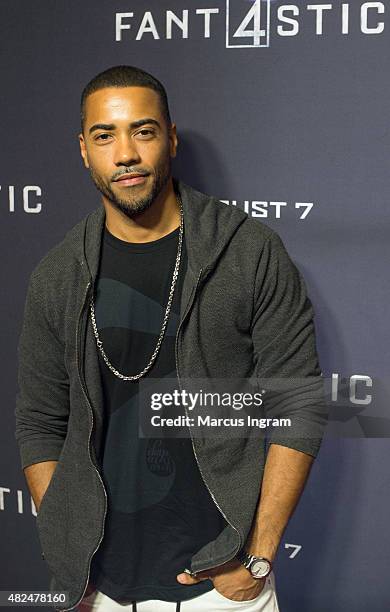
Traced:
<path fill-rule="evenodd" d="M 252 341 L 265 416 L 290 424 L 270 427 L 268 442 L 315 457 L 328 410 L 313 319 L 304 279 L 271 230 L 257 267 Z"/>

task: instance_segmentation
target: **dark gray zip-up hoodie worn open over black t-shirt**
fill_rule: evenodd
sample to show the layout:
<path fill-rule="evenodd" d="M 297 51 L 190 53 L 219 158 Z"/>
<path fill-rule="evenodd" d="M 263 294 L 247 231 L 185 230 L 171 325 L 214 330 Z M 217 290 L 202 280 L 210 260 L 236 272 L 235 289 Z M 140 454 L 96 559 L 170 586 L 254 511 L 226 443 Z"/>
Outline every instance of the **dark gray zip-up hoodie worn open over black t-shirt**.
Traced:
<path fill-rule="evenodd" d="M 288 435 L 271 430 L 269 441 L 315 457 L 327 415 L 302 276 L 274 230 L 182 181 L 174 183 L 188 253 L 175 344 L 179 381 L 304 379 L 295 390 L 276 394 L 273 417 L 283 413 L 292 425 Z M 36 265 L 18 344 L 15 436 L 22 468 L 58 461 L 36 519 L 50 589 L 69 593 L 69 603 L 59 602 L 57 610 L 81 601 L 104 536 L 104 404 L 89 317 L 104 223 L 101 205 Z M 227 521 L 192 557 L 189 569 L 197 572 L 226 562 L 244 546 L 266 450 L 259 436 L 193 437 L 192 444 L 205 485 Z"/>

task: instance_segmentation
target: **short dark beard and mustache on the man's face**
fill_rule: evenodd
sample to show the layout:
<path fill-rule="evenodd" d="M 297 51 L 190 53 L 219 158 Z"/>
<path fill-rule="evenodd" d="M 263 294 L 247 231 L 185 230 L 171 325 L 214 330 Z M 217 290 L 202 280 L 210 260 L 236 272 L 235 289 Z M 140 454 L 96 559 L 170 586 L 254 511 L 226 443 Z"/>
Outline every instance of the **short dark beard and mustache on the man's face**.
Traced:
<path fill-rule="evenodd" d="M 144 172 L 140 168 L 134 168 L 133 171 Z M 105 196 L 117 210 L 129 217 L 129 219 L 133 219 L 140 213 L 147 210 L 153 204 L 154 200 L 168 183 L 171 176 L 171 158 L 169 155 L 166 158 L 164 157 L 158 166 L 155 167 L 152 185 L 150 186 L 148 193 L 146 193 L 144 196 L 134 196 L 132 190 L 137 189 L 137 187 L 129 187 L 130 195 L 127 198 L 121 198 L 112 190 L 111 181 L 105 180 L 102 176 L 97 174 L 92 167 L 90 167 L 90 173 L 91 178 L 100 193 Z M 151 176 L 151 174 L 148 176 Z"/>

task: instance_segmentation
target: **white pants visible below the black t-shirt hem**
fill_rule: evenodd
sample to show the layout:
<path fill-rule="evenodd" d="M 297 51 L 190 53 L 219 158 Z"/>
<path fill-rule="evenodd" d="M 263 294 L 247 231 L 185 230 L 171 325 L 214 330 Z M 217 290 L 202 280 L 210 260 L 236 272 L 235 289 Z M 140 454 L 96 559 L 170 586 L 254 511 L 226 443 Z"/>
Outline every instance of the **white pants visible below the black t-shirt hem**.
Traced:
<path fill-rule="evenodd" d="M 79 612 L 279 612 L 273 572 L 265 581 L 260 595 L 251 601 L 232 601 L 216 589 L 179 603 L 148 599 L 136 603 L 119 604 L 104 593 L 94 591 L 81 600 Z"/>

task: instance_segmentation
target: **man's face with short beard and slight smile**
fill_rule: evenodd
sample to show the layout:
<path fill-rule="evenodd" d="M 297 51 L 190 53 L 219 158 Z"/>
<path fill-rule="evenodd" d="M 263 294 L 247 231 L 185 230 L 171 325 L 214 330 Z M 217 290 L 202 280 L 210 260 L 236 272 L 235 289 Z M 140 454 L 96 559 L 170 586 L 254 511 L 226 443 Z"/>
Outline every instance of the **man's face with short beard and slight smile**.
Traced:
<path fill-rule="evenodd" d="M 167 125 L 152 89 L 107 87 L 90 94 L 79 141 L 103 200 L 130 218 L 149 208 L 170 179 L 176 126 Z"/>

